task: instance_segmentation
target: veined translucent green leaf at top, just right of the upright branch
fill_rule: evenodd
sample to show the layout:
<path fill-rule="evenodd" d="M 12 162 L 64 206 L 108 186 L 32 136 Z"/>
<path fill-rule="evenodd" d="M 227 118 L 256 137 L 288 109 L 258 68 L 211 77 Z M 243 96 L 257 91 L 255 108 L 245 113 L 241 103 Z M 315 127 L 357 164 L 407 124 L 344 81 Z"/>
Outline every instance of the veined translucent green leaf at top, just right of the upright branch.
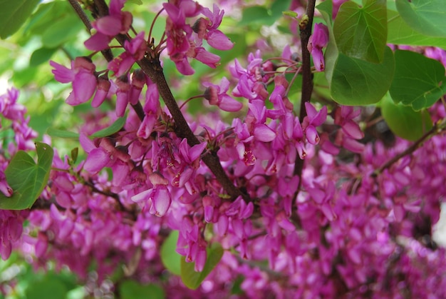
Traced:
<path fill-rule="evenodd" d="M 363 7 L 351 1 L 342 4 L 333 33 L 341 53 L 380 63 L 384 58 L 387 41 L 385 0 L 368 0 Z"/>

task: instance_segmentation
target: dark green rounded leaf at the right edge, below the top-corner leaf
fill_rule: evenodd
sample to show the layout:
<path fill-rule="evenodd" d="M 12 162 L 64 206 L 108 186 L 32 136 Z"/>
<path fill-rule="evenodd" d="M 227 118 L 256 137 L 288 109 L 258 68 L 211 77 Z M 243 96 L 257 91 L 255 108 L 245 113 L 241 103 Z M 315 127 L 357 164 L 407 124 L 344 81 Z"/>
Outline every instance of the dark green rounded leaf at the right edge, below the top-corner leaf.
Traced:
<path fill-rule="evenodd" d="M 395 78 L 390 96 L 395 103 L 412 105 L 418 111 L 432 106 L 446 93 L 445 67 L 413 51 L 395 51 Z"/>

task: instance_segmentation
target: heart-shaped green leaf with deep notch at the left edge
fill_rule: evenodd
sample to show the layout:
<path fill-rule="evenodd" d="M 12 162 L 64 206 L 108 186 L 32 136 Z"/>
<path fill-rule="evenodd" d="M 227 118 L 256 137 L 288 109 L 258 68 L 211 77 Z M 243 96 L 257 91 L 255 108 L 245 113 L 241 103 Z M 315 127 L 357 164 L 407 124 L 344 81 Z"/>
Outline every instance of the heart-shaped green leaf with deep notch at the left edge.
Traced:
<path fill-rule="evenodd" d="M 37 163 L 25 151 L 18 151 L 6 168 L 6 181 L 14 190 L 11 197 L 0 193 L 0 209 L 24 210 L 31 208 L 41 195 L 50 176 L 53 148 L 36 142 Z"/>

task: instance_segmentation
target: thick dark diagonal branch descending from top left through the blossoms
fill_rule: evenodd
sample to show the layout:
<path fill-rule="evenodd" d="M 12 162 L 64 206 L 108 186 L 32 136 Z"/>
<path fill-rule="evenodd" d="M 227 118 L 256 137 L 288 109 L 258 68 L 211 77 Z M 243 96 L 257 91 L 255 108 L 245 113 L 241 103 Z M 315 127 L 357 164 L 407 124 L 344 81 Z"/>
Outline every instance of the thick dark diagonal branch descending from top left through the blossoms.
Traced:
<path fill-rule="evenodd" d="M 98 17 L 107 16 L 108 15 L 108 6 L 105 4 L 104 0 L 94 0 L 95 4 L 95 14 Z M 118 34 L 115 36 L 115 39 L 124 46 L 125 41 L 128 41 L 129 38 L 126 35 Z M 160 56 L 153 51 L 149 51 L 148 57 L 144 57 L 140 61 L 137 61 L 137 64 L 140 66 L 142 71 L 152 80 L 153 83 L 158 88 L 158 92 L 162 97 L 165 105 L 172 114 L 172 118 L 175 121 L 175 133 L 180 138 L 187 138 L 187 143 L 190 146 L 195 146 L 199 144 L 198 138 L 190 129 L 189 124 L 185 120 L 185 117 L 182 115 L 180 111 L 180 107 L 175 101 L 174 96 L 172 95 L 172 91 L 166 81 L 166 78 L 162 72 L 162 66 L 160 64 Z M 138 112 L 138 111 L 137 111 Z M 219 183 L 222 185 L 224 190 L 231 196 L 232 198 L 237 198 L 238 196 L 242 196 L 245 200 L 249 200 L 249 196 L 245 193 L 242 193 L 239 188 L 237 188 L 231 179 L 225 173 L 222 164 L 219 161 L 216 151 L 208 151 L 206 155 L 202 157 L 202 160 L 206 164 L 206 166 L 214 173 L 214 176 L 217 178 Z"/>

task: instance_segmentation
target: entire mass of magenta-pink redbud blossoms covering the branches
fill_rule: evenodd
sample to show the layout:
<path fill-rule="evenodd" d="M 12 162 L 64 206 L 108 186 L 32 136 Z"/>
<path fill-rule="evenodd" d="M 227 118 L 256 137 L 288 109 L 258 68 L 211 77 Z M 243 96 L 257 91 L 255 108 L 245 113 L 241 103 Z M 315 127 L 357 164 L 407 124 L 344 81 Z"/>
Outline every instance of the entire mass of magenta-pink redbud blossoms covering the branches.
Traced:
<path fill-rule="evenodd" d="M 88 119 L 125 117 L 125 123 L 108 136 L 94 135 L 85 123 L 79 134 L 85 160 L 56 154 L 48 186 L 33 208 L 0 211 L 1 258 L 20 246 L 36 265 L 55 260 L 83 279 L 95 264 L 98 280 L 120 265 L 125 278 L 163 285 L 168 298 L 235 293 L 418 298 L 427 290 L 432 298 L 443 295 L 445 249 L 432 242 L 431 225 L 425 223 L 438 221 L 445 201 L 444 133 L 382 168 L 410 143 L 370 141 L 359 126 L 370 116 L 366 109 L 305 102 L 296 113 L 299 101 L 290 92 L 294 78 L 287 74 L 298 74 L 301 63 L 289 46 L 279 57 L 266 59 L 255 51 L 246 61 L 236 59 L 230 77 L 218 85 L 203 82 L 202 97 L 217 108 L 179 118 L 160 103 L 160 94 L 165 101 L 170 95 L 160 83 L 163 77 L 155 80 L 134 64 L 167 49 L 181 74 L 194 72 L 190 58 L 216 67 L 219 57 L 202 41 L 214 49 L 232 48 L 218 29 L 224 11 L 192 0 L 163 4 L 165 40 L 157 47 L 146 43 L 143 32 L 130 38 L 133 17 L 122 11 L 124 2 L 110 1 L 109 15 L 93 22 L 96 32 L 85 42 L 100 51 L 114 36 L 127 36 L 123 52 L 107 69 L 97 71 L 88 57 L 76 58 L 71 69 L 53 61 L 51 66 L 57 81 L 72 83 L 68 104 L 93 97 L 97 108 L 109 101 L 113 112 L 92 109 Z M 195 24 L 187 24 L 191 18 L 197 18 Z M 324 69 L 327 41 L 326 27 L 316 24 L 308 44 L 316 71 Z M 437 57 L 444 53 L 426 51 Z M 16 99 L 14 90 L 0 97 L 0 112 L 16 134 L 10 154 L 33 148 L 36 137 Z M 234 117 L 228 121 L 219 110 Z M 435 122 L 444 120 L 445 106 L 435 104 L 430 115 Z M 0 155 L 5 196 L 11 195 L 4 177 L 9 158 Z M 229 192 L 232 187 L 236 196 Z M 195 263 L 196 271 L 206 268 L 212 244 L 224 250 L 197 290 L 185 288 L 160 261 L 160 247 L 172 230 L 179 235 L 177 253 Z"/>

